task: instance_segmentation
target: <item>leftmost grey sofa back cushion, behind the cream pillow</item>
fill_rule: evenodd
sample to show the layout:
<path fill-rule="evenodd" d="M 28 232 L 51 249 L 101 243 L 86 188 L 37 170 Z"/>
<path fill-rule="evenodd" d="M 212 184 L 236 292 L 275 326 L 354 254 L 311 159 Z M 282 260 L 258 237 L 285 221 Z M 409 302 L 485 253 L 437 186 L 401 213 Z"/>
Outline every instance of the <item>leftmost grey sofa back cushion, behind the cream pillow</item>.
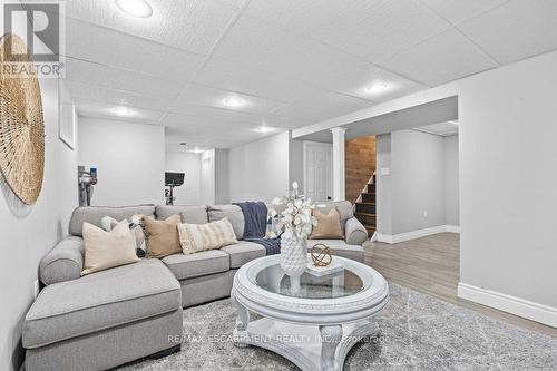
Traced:
<path fill-rule="evenodd" d="M 135 214 L 146 216 L 155 215 L 155 205 L 136 206 L 80 206 L 71 213 L 69 233 L 74 236 L 84 235 L 84 222 L 102 227 L 100 221 L 104 216 L 114 217 L 117 221 L 131 219 Z"/>

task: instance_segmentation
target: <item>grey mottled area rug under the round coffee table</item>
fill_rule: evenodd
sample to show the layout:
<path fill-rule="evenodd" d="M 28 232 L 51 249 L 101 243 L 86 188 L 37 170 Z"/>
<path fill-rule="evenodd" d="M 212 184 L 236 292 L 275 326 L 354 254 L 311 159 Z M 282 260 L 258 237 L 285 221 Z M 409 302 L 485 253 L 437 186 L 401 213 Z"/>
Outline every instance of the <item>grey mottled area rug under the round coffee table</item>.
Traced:
<path fill-rule="evenodd" d="M 557 339 L 389 286 L 379 336 L 354 345 L 344 370 L 557 370 Z M 180 352 L 120 370 L 297 370 L 263 349 L 234 346 L 234 323 L 229 300 L 187 309 Z"/>

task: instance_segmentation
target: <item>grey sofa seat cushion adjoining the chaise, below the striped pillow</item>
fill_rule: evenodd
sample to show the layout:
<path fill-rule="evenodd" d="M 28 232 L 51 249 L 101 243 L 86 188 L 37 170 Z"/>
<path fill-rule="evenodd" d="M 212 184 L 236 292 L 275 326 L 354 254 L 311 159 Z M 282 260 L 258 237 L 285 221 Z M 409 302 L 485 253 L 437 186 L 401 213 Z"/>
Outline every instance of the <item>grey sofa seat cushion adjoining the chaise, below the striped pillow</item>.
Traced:
<path fill-rule="evenodd" d="M 176 279 L 186 280 L 231 269 L 228 254 L 218 250 L 203 251 L 195 254 L 174 254 L 163 258 L 163 263 Z"/>

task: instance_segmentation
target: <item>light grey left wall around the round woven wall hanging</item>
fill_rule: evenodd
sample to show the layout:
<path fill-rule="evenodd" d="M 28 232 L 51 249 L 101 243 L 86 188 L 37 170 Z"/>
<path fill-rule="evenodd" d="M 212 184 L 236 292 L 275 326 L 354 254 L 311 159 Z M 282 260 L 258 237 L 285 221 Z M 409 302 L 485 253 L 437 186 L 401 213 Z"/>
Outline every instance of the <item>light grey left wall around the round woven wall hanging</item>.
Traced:
<path fill-rule="evenodd" d="M 46 136 L 45 176 L 37 203 L 23 205 L 0 175 L 0 370 L 7 371 L 20 370 L 23 362 L 21 324 L 33 301 L 39 261 L 67 235 L 69 216 L 77 206 L 77 149 L 58 137 L 58 80 L 46 78 L 39 84 Z"/>

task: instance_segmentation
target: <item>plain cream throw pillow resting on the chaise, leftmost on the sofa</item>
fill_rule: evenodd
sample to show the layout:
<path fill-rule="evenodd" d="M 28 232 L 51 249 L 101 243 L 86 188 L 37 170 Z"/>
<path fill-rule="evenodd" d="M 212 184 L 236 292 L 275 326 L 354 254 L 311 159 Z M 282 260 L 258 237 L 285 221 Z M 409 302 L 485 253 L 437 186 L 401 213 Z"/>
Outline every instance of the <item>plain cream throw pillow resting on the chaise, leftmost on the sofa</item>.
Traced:
<path fill-rule="evenodd" d="M 84 223 L 85 269 L 81 275 L 139 261 L 127 222 L 110 232 Z"/>

